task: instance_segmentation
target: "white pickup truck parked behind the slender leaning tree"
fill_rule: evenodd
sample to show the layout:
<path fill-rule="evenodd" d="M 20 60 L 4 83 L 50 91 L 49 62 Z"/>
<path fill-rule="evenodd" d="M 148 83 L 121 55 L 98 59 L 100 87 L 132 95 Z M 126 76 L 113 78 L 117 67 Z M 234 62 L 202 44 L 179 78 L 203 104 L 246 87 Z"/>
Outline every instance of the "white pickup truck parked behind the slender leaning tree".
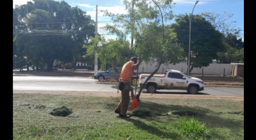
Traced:
<path fill-rule="evenodd" d="M 140 74 L 139 87 L 142 88 L 143 83 L 150 74 Z M 187 90 L 189 94 L 197 94 L 198 91 L 204 90 L 204 81 L 199 78 L 190 77 L 186 74 L 168 69 L 164 74 L 154 74 L 143 87 L 147 92 L 156 93 L 156 90 Z"/>

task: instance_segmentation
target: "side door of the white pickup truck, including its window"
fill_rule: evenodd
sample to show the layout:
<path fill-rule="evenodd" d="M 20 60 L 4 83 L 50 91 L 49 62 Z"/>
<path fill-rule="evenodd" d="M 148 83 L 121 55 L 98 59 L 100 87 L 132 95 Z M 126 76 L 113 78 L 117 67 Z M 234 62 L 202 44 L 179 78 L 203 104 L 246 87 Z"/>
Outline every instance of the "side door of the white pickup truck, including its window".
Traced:
<path fill-rule="evenodd" d="M 183 79 L 183 75 L 180 73 L 169 73 L 170 76 L 170 88 L 175 90 L 186 90 L 186 79 Z"/>

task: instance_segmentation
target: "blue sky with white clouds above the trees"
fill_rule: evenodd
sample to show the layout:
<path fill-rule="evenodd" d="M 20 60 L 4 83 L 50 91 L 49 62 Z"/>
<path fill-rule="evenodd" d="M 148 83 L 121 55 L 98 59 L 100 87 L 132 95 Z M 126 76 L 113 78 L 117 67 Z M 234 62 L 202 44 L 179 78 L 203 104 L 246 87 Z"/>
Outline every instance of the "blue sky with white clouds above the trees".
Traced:
<path fill-rule="evenodd" d="M 13 8 L 15 4 L 26 4 L 31 0 L 13 0 Z M 59 1 L 59 0 L 55 0 Z M 32 1 L 33 2 L 33 1 Z M 106 39 L 115 39 L 116 36 L 107 35 L 107 32 L 102 31 L 100 27 L 106 24 L 113 24 L 109 17 L 104 17 L 100 10 L 108 10 L 111 13 L 127 13 L 125 11 L 122 0 L 65 0 L 70 6 L 78 6 L 83 11 L 86 11 L 91 16 L 92 20 L 96 21 L 96 5 L 98 8 L 98 28 L 99 34 L 104 34 Z M 175 7 L 172 9 L 174 15 L 191 13 L 196 0 L 173 0 Z M 240 36 L 244 41 L 244 1 L 243 0 L 200 0 L 196 4 L 193 15 L 199 13 L 211 12 L 215 14 L 233 14 L 230 21 L 236 21 L 236 28 L 240 28 Z M 192 23 L 193 24 L 193 23 Z"/>

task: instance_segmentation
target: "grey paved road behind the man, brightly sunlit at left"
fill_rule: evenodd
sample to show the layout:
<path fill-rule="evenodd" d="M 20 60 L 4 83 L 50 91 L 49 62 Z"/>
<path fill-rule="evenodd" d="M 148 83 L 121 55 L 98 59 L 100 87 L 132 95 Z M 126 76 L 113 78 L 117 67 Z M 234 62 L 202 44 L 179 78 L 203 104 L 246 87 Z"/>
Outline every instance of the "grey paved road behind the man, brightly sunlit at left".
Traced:
<path fill-rule="evenodd" d="M 117 92 L 117 85 L 96 84 L 95 81 L 97 80 L 81 77 L 13 76 L 13 90 Z M 148 93 L 146 90 L 142 90 L 142 94 Z M 186 90 L 157 90 L 157 94 L 188 93 Z M 198 94 L 244 97 L 244 88 L 205 87 L 205 90 Z"/>

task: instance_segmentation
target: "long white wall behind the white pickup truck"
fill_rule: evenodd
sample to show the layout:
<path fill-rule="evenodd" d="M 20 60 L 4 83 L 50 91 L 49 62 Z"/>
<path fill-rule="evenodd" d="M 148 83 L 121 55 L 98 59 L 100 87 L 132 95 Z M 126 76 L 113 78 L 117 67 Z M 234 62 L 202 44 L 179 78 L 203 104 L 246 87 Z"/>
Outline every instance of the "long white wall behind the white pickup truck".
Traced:
<path fill-rule="evenodd" d="M 208 67 L 201 67 L 201 69 L 194 67 L 193 70 L 191 71 L 191 74 L 202 74 L 202 68 L 204 68 L 204 74 L 224 74 L 224 69 L 225 69 L 225 75 L 231 75 L 231 71 L 232 71 L 231 64 L 212 63 Z M 150 66 L 150 64 L 145 65 L 145 62 L 141 62 L 140 67 L 138 69 L 138 73 L 152 73 L 155 69 L 156 69 L 156 63 Z M 181 62 L 175 65 L 169 64 L 168 66 L 165 66 L 164 64 L 162 64 L 159 67 L 157 73 L 163 73 L 165 69 L 175 69 L 178 71 L 182 71 L 183 73 L 187 73 L 188 65 L 186 64 L 186 62 Z"/>

